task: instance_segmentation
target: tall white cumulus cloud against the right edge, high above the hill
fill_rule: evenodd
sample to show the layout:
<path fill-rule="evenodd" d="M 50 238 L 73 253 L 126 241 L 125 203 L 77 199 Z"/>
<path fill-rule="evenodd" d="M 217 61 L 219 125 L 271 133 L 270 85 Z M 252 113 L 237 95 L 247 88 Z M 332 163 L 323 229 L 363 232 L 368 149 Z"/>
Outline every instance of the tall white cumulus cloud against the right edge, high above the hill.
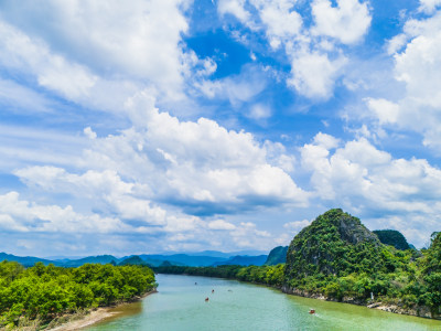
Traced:
<path fill-rule="evenodd" d="M 389 43 L 395 78 L 405 93 L 395 99 L 367 98 L 370 114 L 380 125 L 413 130 L 423 143 L 438 150 L 441 141 L 441 14 L 406 22 L 404 33 Z"/>

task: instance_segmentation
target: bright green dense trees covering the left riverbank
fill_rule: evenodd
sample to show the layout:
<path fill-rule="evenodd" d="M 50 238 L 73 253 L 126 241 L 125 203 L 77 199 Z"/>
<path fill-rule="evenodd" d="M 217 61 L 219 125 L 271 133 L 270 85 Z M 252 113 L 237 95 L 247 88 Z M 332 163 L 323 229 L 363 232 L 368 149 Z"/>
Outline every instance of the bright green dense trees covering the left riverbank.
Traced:
<path fill-rule="evenodd" d="M 63 268 L 0 263 L 0 329 L 47 324 L 78 310 L 131 301 L 155 287 L 146 266 L 86 264 Z"/>

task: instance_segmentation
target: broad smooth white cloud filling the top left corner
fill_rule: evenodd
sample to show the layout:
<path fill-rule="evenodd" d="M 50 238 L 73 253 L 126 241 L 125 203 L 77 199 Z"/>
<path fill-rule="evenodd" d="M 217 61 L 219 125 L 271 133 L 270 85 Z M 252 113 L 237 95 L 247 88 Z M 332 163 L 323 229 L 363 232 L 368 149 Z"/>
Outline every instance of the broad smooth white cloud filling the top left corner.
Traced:
<path fill-rule="evenodd" d="M 126 78 L 147 78 L 160 86 L 176 87 L 185 70 L 180 45 L 181 34 L 189 28 L 182 13 L 185 6 L 183 0 L 72 0 L 50 1 L 44 7 L 33 1 L 14 6 L 3 1 L 2 18 L 29 35 L 44 36 L 55 53 L 68 52 L 73 62 L 99 75 L 116 72 Z"/>

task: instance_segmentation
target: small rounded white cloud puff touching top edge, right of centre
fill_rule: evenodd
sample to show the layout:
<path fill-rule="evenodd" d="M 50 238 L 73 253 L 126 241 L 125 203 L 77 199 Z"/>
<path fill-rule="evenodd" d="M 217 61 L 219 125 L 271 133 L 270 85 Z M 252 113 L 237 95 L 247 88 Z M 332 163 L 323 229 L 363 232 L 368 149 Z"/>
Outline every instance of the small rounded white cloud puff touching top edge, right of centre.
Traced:
<path fill-rule="evenodd" d="M 333 7 L 329 0 L 314 0 L 311 7 L 315 21 L 312 33 L 335 38 L 344 44 L 358 42 L 370 25 L 367 2 L 337 0 L 337 7 Z"/>

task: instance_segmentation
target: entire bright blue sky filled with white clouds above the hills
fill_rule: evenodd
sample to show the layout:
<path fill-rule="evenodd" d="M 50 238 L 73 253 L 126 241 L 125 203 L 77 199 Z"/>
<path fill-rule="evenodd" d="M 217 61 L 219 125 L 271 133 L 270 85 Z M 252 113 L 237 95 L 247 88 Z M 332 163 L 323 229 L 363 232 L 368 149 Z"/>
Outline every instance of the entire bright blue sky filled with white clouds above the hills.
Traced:
<path fill-rule="evenodd" d="M 441 229 L 441 0 L 1 0 L 0 252 Z"/>

